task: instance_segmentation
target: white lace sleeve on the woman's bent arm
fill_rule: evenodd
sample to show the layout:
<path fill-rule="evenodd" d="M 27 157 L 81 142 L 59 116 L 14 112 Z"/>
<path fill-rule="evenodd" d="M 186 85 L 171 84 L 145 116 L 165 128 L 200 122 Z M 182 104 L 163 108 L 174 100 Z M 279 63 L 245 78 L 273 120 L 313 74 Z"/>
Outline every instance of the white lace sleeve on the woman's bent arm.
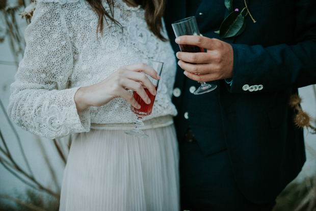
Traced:
<path fill-rule="evenodd" d="M 67 89 L 74 59 L 62 7 L 37 4 L 8 107 L 17 125 L 51 139 L 90 130 L 88 110 L 78 115 L 74 102 L 80 87 Z"/>

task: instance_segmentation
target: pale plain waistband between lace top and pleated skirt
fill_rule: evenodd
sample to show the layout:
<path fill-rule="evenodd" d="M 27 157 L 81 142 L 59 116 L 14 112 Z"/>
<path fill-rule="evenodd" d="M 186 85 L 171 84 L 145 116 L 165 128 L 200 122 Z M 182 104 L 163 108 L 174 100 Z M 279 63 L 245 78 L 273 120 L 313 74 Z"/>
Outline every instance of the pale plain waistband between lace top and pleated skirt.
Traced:
<path fill-rule="evenodd" d="M 136 117 L 135 117 L 136 120 Z M 141 129 L 152 129 L 159 127 L 166 127 L 173 124 L 173 117 L 171 115 L 155 117 L 144 120 L 144 126 Z M 113 124 L 96 124 L 91 123 L 91 129 L 107 129 L 107 130 L 128 130 L 134 128 L 134 123 L 113 123 Z"/>

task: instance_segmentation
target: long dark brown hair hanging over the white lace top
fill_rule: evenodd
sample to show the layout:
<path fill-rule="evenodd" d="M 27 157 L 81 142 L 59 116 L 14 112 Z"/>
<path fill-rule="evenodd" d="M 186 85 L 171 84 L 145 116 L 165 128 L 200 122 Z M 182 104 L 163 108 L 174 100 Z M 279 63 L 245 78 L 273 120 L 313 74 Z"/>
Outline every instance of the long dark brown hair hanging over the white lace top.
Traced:
<path fill-rule="evenodd" d="M 103 17 L 109 18 L 115 26 L 122 27 L 122 25 L 114 19 L 114 1 L 115 0 L 107 0 L 107 3 L 110 7 L 110 14 L 104 9 L 102 5 L 102 0 L 86 0 L 89 5 L 92 7 L 94 12 L 98 15 L 98 25 L 97 31 L 99 30 L 101 33 L 103 31 Z M 126 0 L 125 0 L 126 1 Z M 126 1 L 128 2 L 128 1 Z M 131 5 L 134 5 L 128 2 Z M 162 36 L 161 30 L 163 28 L 162 16 L 165 10 L 165 0 L 135 0 L 137 5 L 140 5 L 145 10 L 145 20 L 148 25 L 148 29 L 159 39 L 166 41 L 167 39 Z M 135 5 L 136 6 L 136 5 Z M 106 19 L 107 21 L 107 19 Z"/>

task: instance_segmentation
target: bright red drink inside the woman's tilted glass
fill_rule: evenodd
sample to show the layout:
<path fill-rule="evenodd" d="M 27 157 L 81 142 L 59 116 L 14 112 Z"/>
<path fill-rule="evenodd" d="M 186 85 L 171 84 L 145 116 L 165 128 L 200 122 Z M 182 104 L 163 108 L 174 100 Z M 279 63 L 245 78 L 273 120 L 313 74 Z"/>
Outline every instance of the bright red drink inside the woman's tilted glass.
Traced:
<path fill-rule="evenodd" d="M 156 90 L 157 88 L 158 87 L 156 86 Z M 144 100 L 137 94 L 137 92 L 134 92 L 133 96 L 136 99 L 136 101 L 141 105 L 141 108 L 136 109 L 133 107 L 133 105 L 131 105 L 130 107 L 130 111 L 139 116 L 148 116 L 151 114 L 152 106 L 156 97 L 155 95 L 152 95 L 147 88 L 144 87 L 144 90 L 150 99 L 150 103 L 147 104 L 146 102 L 144 102 Z"/>

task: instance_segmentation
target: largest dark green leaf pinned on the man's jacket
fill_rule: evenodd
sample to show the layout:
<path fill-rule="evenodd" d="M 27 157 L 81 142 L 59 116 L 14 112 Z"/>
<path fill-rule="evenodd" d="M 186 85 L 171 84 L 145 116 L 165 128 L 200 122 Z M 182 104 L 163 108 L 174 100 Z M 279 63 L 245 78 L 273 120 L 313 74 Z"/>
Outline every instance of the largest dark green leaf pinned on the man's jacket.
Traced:
<path fill-rule="evenodd" d="M 244 19 L 241 12 L 234 11 L 230 13 L 221 24 L 220 38 L 235 36 L 243 27 Z"/>

